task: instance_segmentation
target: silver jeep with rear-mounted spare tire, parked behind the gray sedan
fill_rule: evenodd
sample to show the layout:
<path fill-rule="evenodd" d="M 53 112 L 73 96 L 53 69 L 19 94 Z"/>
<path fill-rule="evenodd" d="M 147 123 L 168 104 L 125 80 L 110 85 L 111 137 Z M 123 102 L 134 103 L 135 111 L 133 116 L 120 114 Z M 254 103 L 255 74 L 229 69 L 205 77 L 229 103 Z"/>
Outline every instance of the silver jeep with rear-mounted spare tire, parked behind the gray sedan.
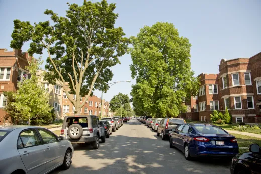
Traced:
<path fill-rule="evenodd" d="M 93 149 L 99 148 L 99 139 L 105 142 L 105 130 L 95 115 L 65 116 L 61 135 L 70 142 L 90 142 Z"/>

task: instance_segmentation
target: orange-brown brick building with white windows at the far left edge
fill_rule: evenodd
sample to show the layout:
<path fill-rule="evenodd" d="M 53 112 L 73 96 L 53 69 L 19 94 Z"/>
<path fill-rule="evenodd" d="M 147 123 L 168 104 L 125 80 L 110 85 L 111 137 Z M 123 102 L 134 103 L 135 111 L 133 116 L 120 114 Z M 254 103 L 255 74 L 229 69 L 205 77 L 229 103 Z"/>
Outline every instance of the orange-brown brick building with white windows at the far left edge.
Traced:
<path fill-rule="evenodd" d="M 11 123 L 8 119 L 4 120 L 7 97 L 3 93 L 16 91 L 17 83 L 22 81 L 23 77 L 30 78 L 25 68 L 28 66 L 28 61 L 31 61 L 28 52 L 0 49 L 0 125 Z"/>

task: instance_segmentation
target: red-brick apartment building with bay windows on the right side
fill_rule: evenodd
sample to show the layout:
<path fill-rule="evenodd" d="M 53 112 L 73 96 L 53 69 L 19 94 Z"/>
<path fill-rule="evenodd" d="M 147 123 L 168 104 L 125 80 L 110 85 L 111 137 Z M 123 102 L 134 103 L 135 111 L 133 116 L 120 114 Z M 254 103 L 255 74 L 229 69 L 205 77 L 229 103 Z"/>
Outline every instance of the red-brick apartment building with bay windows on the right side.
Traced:
<path fill-rule="evenodd" d="M 198 96 L 186 102 L 181 116 L 195 121 L 210 121 L 213 110 L 226 107 L 233 122 L 260 123 L 261 53 L 251 58 L 222 59 L 218 74 L 202 73 Z"/>

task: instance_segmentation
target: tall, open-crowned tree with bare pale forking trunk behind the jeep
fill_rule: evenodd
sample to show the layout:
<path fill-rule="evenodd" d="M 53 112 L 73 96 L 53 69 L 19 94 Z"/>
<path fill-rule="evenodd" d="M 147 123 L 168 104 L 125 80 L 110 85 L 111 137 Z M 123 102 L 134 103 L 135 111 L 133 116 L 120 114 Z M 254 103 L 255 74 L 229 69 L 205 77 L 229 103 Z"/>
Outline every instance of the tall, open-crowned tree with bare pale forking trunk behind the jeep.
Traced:
<path fill-rule="evenodd" d="M 107 83 L 113 76 L 110 67 L 120 63 L 119 57 L 126 53 L 129 40 L 121 27 L 114 27 L 118 17 L 115 4 L 103 0 L 68 6 L 65 17 L 52 10 L 44 12 L 51 16 L 54 25 L 49 21 L 31 25 L 14 20 L 11 47 L 21 49 L 24 42 L 31 40 L 30 55 L 47 51 L 45 79 L 60 83 L 79 114 L 94 89 L 108 89 Z M 65 87 L 66 82 L 70 90 Z M 69 94 L 75 94 L 76 100 Z M 85 96 L 82 103 L 81 96 Z"/>

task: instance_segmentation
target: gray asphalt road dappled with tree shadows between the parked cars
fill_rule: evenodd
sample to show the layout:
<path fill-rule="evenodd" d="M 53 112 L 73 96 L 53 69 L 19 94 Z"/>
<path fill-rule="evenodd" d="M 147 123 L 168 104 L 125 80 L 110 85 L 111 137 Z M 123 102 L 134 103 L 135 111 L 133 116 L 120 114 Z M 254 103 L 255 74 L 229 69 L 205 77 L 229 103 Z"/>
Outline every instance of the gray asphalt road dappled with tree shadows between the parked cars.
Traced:
<path fill-rule="evenodd" d="M 71 167 L 52 173 L 230 173 L 231 160 L 187 161 L 182 152 L 169 148 L 168 141 L 136 119 L 113 132 L 98 150 L 85 144 L 73 146 Z"/>

